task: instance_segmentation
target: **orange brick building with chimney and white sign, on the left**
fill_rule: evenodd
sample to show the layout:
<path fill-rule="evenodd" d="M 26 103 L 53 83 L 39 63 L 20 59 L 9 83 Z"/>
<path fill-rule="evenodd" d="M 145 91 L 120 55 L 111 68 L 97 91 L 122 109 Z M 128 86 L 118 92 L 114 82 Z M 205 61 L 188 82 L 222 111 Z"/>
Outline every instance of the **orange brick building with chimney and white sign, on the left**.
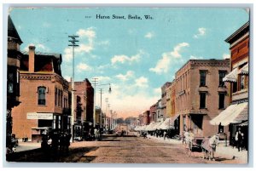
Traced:
<path fill-rule="evenodd" d="M 70 128 L 70 97 L 61 76 L 61 54 L 29 52 L 20 60 L 20 105 L 14 108 L 17 138 L 41 140 L 52 129 Z"/>

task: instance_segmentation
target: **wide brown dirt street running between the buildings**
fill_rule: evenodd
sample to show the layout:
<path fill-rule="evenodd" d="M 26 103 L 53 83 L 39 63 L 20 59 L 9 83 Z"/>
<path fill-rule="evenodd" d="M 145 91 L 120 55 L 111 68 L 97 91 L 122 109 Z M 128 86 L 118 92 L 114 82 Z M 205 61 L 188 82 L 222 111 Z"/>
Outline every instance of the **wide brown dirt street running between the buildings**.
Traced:
<path fill-rule="evenodd" d="M 35 151 L 12 158 L 16 162 L 94 162 L 94 163 L 239 163 L 236 159 L 217 157 L 216 161 L 202 159 L 201 152 L 186 155 L 184 145 L 154 139 L 115 135 L 101 141 L 81 141 L 62 151 Z"/>

